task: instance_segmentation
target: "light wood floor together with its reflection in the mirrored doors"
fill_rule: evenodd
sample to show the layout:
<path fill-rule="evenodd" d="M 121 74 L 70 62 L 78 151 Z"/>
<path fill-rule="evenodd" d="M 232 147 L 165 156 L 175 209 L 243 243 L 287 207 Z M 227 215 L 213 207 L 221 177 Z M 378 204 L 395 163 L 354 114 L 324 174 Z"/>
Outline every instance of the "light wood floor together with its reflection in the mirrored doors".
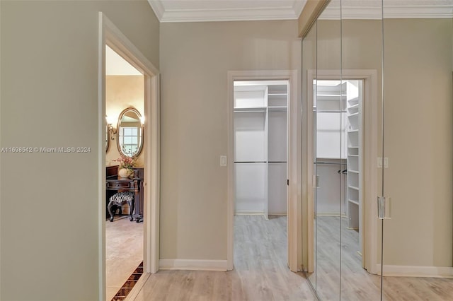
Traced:
<path fill-rule="evenodd" d="M 159 271 L 149 276 L 133 300 L 317 300 L 304 275 L 287 268 L 286 223 L 286 217 L 265 220 L 263 216 L 236 216 L 234 271 Z M 340 231 L 339 223 L 337 228 L 320 231 Z M 326 248 L 318 258 L 317 287 L 324 290 L 319 294 L 322 300 L 340 300 L 334 273 L 339 266 L 330 259 L 339 256 L 335 248 L 339 242 L 328 237 L 324 236 Z M 353 235 L 350 238 L 355 239 Z M 364 271 L 360 261 L 355 262 L 355 248 L 348 250 L 343 242 L 342 256 L 350 256 L 350 263 L 342 266 L 341 300 L 380 300 L 379 276 Z M 338 289 L 332 293 L 329 287 Z M 384 277 L 384 300 L 453 301 L 453 280 Z"/>

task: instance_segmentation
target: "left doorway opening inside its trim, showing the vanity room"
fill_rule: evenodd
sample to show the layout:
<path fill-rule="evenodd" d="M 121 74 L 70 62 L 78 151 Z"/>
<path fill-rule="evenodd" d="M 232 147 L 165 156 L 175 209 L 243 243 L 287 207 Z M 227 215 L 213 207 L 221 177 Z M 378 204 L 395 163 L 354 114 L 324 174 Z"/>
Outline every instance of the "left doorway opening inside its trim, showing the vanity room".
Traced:
<path fill-rule="evenodd" d="M 112 300 L 130 292 L 136 282 L 130 277 L 142 266 L 143 174 L 147 162 L 143 148 L 139 148 L 143 146 L 142 132 L 146 130 L 140 119 L 144 116 L 144 75 L 108 45 L 105 46 L 105 116 L 108 122 L 105 194 L 109 208 L 106 213 L 109 221 L 105 222 L 105 286 L 106 300 Z M 134 172 L 137 171 L 137 175 L 127 178 L 130 182 L 117 181 L 122 165 L 118 160 L 122 157 L 133 160 Z M 134 179 L 137 179 L 137 192 L 129 187 Z M 127 202 L 110 203 L 110 197 L 120 196 L 123 191 L 116 189 L 118 184 L 128 185 L 124 191 L 134 194 L 134 207 Z"/>

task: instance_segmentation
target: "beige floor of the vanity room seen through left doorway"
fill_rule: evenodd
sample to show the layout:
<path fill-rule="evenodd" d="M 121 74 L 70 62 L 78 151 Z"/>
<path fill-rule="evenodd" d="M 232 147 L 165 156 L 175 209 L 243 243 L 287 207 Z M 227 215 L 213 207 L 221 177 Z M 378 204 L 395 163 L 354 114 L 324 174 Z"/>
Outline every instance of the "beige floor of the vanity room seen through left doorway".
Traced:
<path fill-rule="evenodd" d="M 105 221 L 105 300 L 110 301 L 143 260 L 143 223 L 128 216 Z"/>

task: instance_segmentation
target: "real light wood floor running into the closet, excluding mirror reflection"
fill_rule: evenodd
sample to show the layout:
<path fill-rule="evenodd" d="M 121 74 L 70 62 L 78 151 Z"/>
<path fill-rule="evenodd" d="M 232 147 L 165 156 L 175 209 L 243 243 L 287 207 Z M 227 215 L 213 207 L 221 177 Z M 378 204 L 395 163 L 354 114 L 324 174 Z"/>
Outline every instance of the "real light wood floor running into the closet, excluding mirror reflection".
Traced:
<path fill-rule="evenodd" d="M 316 300 L 303 274 L 287 268 L 286 223 L 236 216 L 234 271 L 159 271 L 134 300 Z"/>

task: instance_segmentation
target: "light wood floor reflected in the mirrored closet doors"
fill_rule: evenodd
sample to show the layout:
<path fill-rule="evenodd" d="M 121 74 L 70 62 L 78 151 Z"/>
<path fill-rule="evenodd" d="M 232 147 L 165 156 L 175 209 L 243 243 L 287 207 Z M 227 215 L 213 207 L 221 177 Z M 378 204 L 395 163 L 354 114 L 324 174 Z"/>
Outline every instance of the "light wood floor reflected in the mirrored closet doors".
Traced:
<path fill-rule="evenodd" d="M 339 217 L 316 217 L 318 269 L 309 279 L 321 300 L 380 300 L 380 277 L 362 268 L 359 234 L 346 225 L 344 218 L 340 225 Z M 383 285 L 384 300 L 453 300 L 453 279 L 384 277 Z"/>

